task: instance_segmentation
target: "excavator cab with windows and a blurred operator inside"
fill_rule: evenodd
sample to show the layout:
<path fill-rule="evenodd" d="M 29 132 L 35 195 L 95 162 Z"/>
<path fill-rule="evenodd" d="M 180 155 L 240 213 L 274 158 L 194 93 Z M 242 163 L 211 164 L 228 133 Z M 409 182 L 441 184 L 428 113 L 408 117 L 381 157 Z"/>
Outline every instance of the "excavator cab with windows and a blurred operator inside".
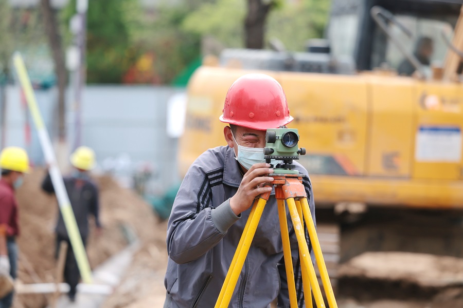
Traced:
<path fill-rule="evenodd" d="M 411 75 L 415 67 L 410 63 L 406 70 L 407 56 L 430 71 L 444 61 L 444 36 L 451 37 L 460 7 L 457 0 L 334 0 L 327 31 L 331 53 L 352 57 L 358 71 Z"/>

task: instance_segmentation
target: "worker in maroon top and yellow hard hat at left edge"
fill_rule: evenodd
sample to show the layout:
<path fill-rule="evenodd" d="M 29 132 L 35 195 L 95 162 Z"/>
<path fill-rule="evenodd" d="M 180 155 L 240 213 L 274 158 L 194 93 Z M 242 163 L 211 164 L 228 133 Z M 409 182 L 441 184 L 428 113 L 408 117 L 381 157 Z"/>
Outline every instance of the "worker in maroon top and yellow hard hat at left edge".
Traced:
<path fill-rule="evenodd" d="M 17 245 L 20 233 L 18 207 L 14 190 L 23 183 L 24 173 L 29 171 L 29 158 L 24 149 L 6 147 L 0 153 L 0 275 L 16 278 Z M 0 299 L 0 308 L 8 308 L 13 303 L 13 292 Z"/>

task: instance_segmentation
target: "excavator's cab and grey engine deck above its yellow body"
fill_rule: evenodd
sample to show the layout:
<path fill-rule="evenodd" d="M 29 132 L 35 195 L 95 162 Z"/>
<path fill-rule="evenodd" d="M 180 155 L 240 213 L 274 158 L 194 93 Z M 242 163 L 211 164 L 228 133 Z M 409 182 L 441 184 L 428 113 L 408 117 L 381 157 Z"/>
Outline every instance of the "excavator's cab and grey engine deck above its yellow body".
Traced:
<path fill-rule="evenodd" d="M 441 67 L 458 20 L 457 0 L 333 0 L 325 39 L 303 52 L 278 40 L 268 50 L 225 49 L 220 65 L 272 71 L 355 74 L 381 70 L 421 78 Z"/>

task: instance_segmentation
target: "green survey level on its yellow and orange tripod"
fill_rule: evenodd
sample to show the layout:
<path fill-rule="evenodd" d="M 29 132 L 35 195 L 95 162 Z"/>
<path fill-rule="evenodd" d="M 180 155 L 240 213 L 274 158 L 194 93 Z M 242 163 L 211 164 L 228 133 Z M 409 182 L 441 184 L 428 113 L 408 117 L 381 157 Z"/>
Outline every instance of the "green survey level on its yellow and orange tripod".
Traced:
<path fill-rule="evenodd" d="M 304 148 L 297 148 L 299 134 L 297 129 L 289 128 L 272 128 L 267 129 L 265 134 L 264 158 L 267 163 L 276 160 L 278 164 L 274 168 L 274 173 L 270 176 L 274 178 L 275 198 L 277 199 L 278 218 L 280 221 L 281 240 L 283 243 L 283 258 L 288 279 L 288 292 L 290 297 L 291 308 L 297 308 L 296 284 L 294 281 L 293 261 L 291 259 L 291 246 L 289 240 L 289 231 L 286 216 L 286 204 L 288 204 L 289 213 L 293 222 L 297 243 L 299 246 L 299 257 L 301 260 L 302 285 L 304 287 L 304 299 L 306 307 L 312 307 L 312 295 L 318 308 L 325 308 L 325 302 L 320 291 L 315 269 L 310 258 L 309 247 L 307 245 L 304 224 L 306 222 L 310 242 L 314 251 L 316 264 L 322 278 L 326 298 L 330 308 L 337 308 L 336 300 L 333 294 L 333 288 L 328 276 L 325 261 L 320 249 L 320 243 L 315 230 L 315 225 L 310 213 L 309 201 L 307 200 L 306 191 L 302 184 L 302 177 L 299 171 L 295 170 L 293 160 L 299 159 L 299 155 L 305 155 Z M 273 166 L 272 166 L 273 167 Z M 258 201 L 254 200 L 251 213 L 241 235 L 238 247 L 233 260 L 228 268 L 227 276 L 222 285 L 219 298 L 215 308 L 227 308 L 231 296 L 238 282 L 244 260 L 256 233 L 262 211 L 266 202 L 270 198 L 270 192 L 259 196 Z"/>

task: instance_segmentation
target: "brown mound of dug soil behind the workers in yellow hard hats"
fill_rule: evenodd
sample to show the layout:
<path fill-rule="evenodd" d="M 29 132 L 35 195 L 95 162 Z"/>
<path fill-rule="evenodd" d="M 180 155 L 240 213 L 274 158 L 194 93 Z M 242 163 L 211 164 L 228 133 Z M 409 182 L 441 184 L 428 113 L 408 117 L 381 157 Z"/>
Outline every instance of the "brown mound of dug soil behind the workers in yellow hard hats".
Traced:
<path fill-rule="evenodd" d="M 18 279 L 22 283 L 55 281 L 54 227 L 58 205 L 54 196 L 45 194 L 40 188 L 45 174 L 39 169 L 27 175 L 16 194 L 21 227 Z M 153 243 L 153 234 L 165 234 L 165 227 L 159 226 L 150 206 L 134 192 L 121 188 L 110 177 L 99 177 L 95 182 L 100 189 L 103 233 L 96 237 L 92 230 L 87 240 L 92 268 L 127 246 L 127 236 L 124 235 L 127 229 L 134 231 L 142 245 Z M 156 242 L 154 245 L 165 246 L 165 243 Z M 14 307 L 41 308 L 46 304 L 47 296 L 44 295 L 18 295 Z"/>

